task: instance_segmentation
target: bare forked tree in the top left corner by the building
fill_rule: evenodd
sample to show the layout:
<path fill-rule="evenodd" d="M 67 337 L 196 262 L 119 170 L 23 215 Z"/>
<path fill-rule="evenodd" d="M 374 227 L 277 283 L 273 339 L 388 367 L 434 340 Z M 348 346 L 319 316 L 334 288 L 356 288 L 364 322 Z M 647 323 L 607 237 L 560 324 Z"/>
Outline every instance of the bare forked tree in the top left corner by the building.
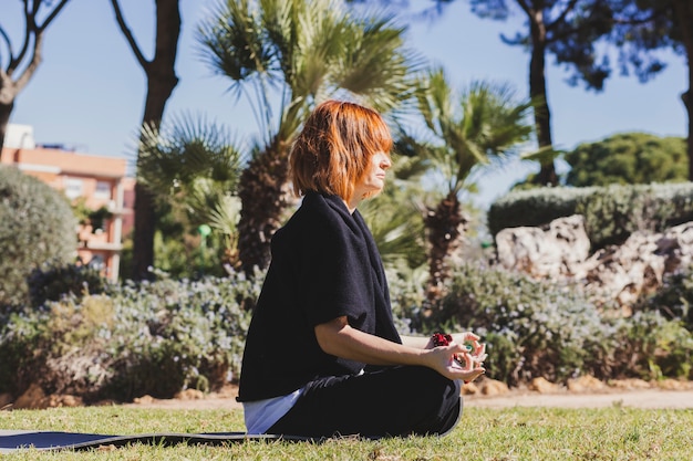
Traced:
<path fill-rule="evenodd" d="M 0 148 L 4 144 L 7 127 L 14 101 L 34 75 L 43 60 L 45 30 L 70 0 L 22 0 L 24 31 L 18 49 L 12 46 L 10 34 L 0 24 Z M 4 49 L 4 51 L 3 51 Z"/>

